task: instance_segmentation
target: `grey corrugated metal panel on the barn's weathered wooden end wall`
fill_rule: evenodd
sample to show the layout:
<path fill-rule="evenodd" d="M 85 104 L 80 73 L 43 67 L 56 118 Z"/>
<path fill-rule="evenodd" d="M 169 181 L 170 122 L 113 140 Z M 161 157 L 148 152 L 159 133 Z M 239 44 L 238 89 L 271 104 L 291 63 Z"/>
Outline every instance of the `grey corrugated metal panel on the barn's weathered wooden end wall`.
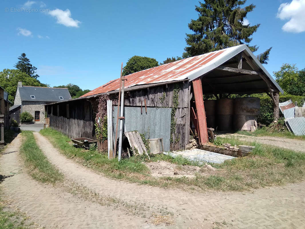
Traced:
<path fill-rule="evenodd" d="M 124 107 L 124 132 L 137 130 L 139 133 L 148 132 L 147 138 L 163 138 L 164 150 L 170 151 L 170 112 L 171 108 Z M 113 136 L 117 125 L 117 106 L 113 106 Z"/>

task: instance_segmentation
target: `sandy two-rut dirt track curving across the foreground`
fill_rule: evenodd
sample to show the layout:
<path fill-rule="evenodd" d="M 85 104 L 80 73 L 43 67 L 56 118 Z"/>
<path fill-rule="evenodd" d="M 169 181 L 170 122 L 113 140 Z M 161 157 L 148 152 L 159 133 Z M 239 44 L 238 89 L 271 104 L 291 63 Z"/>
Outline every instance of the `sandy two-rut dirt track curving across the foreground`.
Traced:
<path fill-rule="evenodd" d="M 65 158 L 45 137 L 39 133 L 34 135 L 50 162 L 65 174 L 67 180 L 82 184 L 101 195 L 145 203 L 152 211 L 167 207 L 169 212 L 174 213 L 175 224 L 160 228 L 304 228 L 305 182 L 259 189 L 253 193 L 188 193 L 130 184 L 108 179 Z M 19 144 L 20 138 L 16 138 L 6 152 L 16 151 Z M 2 155 L 2 175 L 9 175 L 16 166 L 22 167 L 16 158 L 17 152 Z M 14 199 L 14 204 L 31 215 L 35 222 L 48 228 L 55 225 L 58 228 L 108 228 L 110 225 L 113 228 L 154 227 L 145 223 L 147 219 L 138 216 L 132 220 L 132 217 L 124 217 L 124 220 L 117 218 L 111 222 L 116 214 L 124 216 L 124 212 L 84 201 L 59 188 L 39 184 L 23 171 L 6 178 L 2 186 Z M 215 223 L 223 221 L 226 225 Z"/>

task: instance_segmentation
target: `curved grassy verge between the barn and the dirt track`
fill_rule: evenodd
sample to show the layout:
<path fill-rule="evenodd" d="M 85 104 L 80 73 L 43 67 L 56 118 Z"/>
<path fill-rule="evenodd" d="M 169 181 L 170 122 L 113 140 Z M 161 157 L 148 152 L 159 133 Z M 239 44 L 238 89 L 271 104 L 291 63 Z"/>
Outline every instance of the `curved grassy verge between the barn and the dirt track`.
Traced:
<path fill-rule="evenodd" d="M 101 154 L 96 150 L 86 151 L 73 147 L 70 139 L 56 130 L 47 128 L 40 133 L 68 158 L 74 158 L 106 176 L 152 186 L 242 191 L 297 182 L 303 179 L 305 172 L 305 154 L 254 142 L 250 143 L 256 146 L 253 154 L 228 160 L 222 164 L 213 164 L 217 172 L 211 175 L 196 174 L 194 178 L 185 176 L 155 178 L 150 176 L 148 168 L 142 163 L 142 161 L 148 162 L 147 158 L 131 157 L 121 162 L 116 159 L 109 160 L 106 153 Z M 218 138 L 218 141 L 232 145 L 249 144 L 237 138 Z M 156 155 L 151 159 L 151 161 L 157 160 L 178 165 L 196 165 L 184 158 L 171 158 L 166 155 Z"/>

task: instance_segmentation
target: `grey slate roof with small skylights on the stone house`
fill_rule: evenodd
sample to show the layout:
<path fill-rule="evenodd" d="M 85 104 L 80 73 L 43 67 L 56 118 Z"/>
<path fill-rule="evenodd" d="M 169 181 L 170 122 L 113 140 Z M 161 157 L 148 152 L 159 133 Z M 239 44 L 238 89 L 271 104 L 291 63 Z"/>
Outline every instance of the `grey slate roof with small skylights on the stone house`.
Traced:
<path fill-rule="evenodd" d="M 22 86 L 18 89 L 21 101 L 60 102 L 71 99 L 67 88 Z M 31 99 L 31 95 L 34 95 L 35 99 Z M 60 100 L 59 96 L 63 96 L 63 100 Z"/>

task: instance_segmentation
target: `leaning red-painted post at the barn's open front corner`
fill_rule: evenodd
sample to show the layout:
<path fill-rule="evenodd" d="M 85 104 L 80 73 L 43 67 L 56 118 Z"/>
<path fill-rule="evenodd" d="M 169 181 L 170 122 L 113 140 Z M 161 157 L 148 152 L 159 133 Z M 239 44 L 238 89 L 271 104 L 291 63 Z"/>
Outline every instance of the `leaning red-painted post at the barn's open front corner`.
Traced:
<path fill-rule="evenodd" d="M 193 81 L 193 89 L 195 96 L 195 104 L 197 110 L 197 120 L 198 120 L 198 129 L 199 129 L 199 141 L 200 144 L 207 143 L 209 141 L 208 130 L 206 126 L 206 112 L 204 110 L 203 104 L 203 92 L 201 79 L 196 78 Z"/>

